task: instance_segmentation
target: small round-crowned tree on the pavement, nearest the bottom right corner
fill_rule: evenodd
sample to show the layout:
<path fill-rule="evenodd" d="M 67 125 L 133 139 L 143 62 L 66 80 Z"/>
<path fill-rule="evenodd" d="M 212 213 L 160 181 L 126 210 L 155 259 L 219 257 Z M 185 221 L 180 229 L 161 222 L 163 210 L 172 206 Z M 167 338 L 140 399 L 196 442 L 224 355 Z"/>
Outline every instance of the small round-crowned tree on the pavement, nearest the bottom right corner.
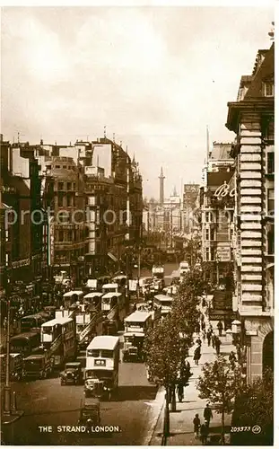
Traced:
<path fill-rule="evenodd" d="M 231 402 L 243 387 L 240 379 L 240 365 L 235 365 L 232 369 L 229 360 L 219 356 L 213 363 L 205 363 L 196 384 L 199 397 L 215 404 L 216 412 L 222 415 L 222 444 L 224 444 L 225 413 L 231 412 Z"/>

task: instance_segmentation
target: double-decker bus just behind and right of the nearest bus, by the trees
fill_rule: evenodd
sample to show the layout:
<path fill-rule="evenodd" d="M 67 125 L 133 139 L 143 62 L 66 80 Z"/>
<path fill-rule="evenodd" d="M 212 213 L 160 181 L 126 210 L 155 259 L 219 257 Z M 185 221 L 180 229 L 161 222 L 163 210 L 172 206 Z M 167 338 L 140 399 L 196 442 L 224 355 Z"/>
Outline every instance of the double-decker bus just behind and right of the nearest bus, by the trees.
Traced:
<path fill-rule="evenodd" d="M 153 326 L 152 313 L 136 311 L 126 317 L 124 324 L 123 361 L 143 361 L 144 337 L 147 330 Z"/>

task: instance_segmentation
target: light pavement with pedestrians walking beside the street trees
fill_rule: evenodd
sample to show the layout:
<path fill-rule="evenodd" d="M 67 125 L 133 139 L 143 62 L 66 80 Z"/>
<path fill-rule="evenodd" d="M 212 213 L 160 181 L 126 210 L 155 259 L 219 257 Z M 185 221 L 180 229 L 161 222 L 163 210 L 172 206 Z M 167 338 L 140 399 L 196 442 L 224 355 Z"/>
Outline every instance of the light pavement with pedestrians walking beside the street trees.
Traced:
<path fill-rule="evenodd" d="M 212 323 L 213 327 L 217 323 Z M 215 330 L 215 329 L 214 329 Z M 215 331 L 217 335 L 218 332 Z M 232 345 L 231 341 L 228 341 L 224 335 L 220 338 L 222 341 L 221 354 L 229 355 L 231 350 L 235 352 L 235 347 Z M 195 337 L 196 340 L 196 337 Z M 193 353 L 194 348 L 189 351 L 189 357 L 187 357 L 193 376 L 190 378 L 189 386 L 184 388 L 184 400 L 179 402 L 177 400 L 177 411 L 170 412 L 170 436 L 167 438 L 165 445 L 201 445 L 200 439 L 196 439 L 193 430 L 193 419 L 198 413 L 201 423 L 204 422 L 204 409 L 205 404 L 208 402 L 206 400 L 201 400 L 198 397 L 198 391 L 196 390 L 196 381 L 198 376 L 202 373 L 202 366 L 205 362 L 213 362 L 216 357 L 215 349 L 212 346 L 207 346 L 207 341 L 202 344 L 202 357 L 200 358 L 199 365 L 194 365 Z M 221 414 L 217 414 L 213 409 L 213 415 L 210 422 L 210 432 L 208 440 L 212 440 L 211 445 L 218 442 L 218 435 L 221 434 Z M 161 408 L 160 417 L 157 421 L 156 427 L 154 428 L 153 437 L 149 445 L 162 445 L 162 427 L 163 427 L 163 415 L 164 407 Z M 225 417 L 225 430 L 230 433 L 231 426 L 231 414 Z M 227 433 L 226 432 L 226 433 Z M 216 441 L 217 438 L 217 441 Z M 208 443 L 207 443 L 208 444 Z M 218 444 L 218 443 L 217 443 Z"/>

